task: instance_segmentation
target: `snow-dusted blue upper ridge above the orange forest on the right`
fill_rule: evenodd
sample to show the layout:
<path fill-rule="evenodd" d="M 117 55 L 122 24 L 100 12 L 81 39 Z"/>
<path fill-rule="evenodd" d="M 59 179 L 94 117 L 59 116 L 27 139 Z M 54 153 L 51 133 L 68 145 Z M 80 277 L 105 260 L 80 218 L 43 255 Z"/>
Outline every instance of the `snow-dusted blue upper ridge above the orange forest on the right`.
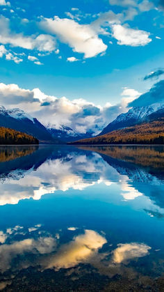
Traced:
<path fill-rule="evenodd" d="M 112 132 L 113 130 L 118 130 L 126 127 L 130 127 L 131 125 L 136 125 L 138 123 L 142 123 L 144 121 L 149 121 L 149 116 L 151 118 L 151 114 L 156 112 L 156 118 L 160 111 L 163 111 L 164 104 L 162 103 L 154 103 L 153 105 L 149 105 L 147 107 L 132 107 L 129 109 L 129 112 L 126 114 L 120 114 L 115 118 L 115 120 L 109 123 L 98 136 L 107 134 L 108 132 Z M 163 116 L 163 114 L 162 114 Z M 155 118 L 155 115 L 154 115 Z"/>

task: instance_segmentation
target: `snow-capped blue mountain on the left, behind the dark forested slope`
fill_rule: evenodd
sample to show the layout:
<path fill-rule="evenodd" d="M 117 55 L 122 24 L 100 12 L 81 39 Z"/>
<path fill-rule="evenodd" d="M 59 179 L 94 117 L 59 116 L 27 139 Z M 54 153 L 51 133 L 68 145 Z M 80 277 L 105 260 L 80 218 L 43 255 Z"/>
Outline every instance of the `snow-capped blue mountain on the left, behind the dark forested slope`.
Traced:
<path fill-rule="evenodd" d="M 59 143 L 52 138 L 47 128 L 37 118 L 32 118 L 21 109 L 6 109 L 0 107 L 0 127 L 10 128 L 40 140 L 41 143 Z"/>

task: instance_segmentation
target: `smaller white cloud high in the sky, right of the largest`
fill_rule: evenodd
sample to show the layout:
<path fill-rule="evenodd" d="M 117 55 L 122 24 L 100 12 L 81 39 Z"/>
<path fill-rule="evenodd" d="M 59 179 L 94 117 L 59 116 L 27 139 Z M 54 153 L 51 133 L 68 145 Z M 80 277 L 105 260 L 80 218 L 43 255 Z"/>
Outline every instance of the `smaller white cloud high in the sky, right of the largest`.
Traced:
<path fill-rule="evenodd" d="M 150 33 L 138 29 L 130 29 L 120 24 L 113 25 L 113 38 L 118 45 L 129 45 L 131 47 L 145 46 L 151 42 Z"/>

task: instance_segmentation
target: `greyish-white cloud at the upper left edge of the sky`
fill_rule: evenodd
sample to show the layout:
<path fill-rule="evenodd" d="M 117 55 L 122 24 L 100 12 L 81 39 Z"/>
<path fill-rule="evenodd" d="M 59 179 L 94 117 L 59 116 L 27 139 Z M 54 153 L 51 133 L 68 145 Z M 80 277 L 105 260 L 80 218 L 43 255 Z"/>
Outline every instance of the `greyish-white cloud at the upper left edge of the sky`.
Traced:
<path fill-rule="evenodd" d="M 0 38 L 3 45 L 22 47 L 24 49 L 38 49 L 40 52 L 52 52 L 56 47 L 56 40 L 53 36 L 40 34 L 39 36 L 24 36 L 23 33 L 10 31 L 8 18 L 0 17 Z"/>

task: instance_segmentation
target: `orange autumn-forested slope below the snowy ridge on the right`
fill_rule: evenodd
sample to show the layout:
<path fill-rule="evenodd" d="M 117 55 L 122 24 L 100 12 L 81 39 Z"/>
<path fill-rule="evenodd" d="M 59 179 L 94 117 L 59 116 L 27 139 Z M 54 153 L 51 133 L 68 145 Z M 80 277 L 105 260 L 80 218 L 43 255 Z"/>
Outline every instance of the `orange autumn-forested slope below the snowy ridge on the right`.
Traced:
<path fill-rule="evenodd" d="M 72 144 L 164 144 L 164 118 L 82 139 Z"/>

